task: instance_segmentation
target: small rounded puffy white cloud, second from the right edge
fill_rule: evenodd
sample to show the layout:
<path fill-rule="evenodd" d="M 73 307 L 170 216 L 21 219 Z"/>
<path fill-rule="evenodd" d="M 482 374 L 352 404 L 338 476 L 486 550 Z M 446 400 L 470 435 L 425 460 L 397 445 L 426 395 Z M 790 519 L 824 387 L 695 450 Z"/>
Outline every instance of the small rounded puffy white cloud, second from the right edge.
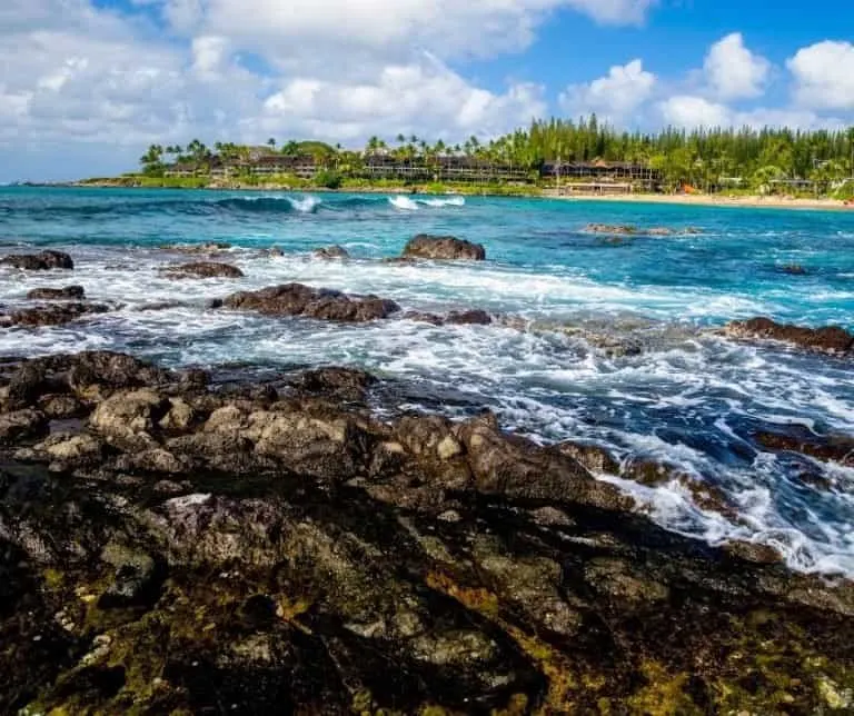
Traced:
<path fill-rule="evenodd" d="M 751 52 L 741 32 L 733 32 L 712 46 L 703 70 L 717 98 L 745 99 L 763 93 L 771 62 Z"/>

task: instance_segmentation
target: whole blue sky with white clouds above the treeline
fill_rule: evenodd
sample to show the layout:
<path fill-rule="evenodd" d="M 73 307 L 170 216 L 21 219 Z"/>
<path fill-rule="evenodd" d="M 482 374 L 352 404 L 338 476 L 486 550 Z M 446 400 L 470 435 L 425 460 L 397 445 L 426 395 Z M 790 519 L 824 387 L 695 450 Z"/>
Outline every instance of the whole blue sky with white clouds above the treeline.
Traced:
<path fill-rule="evenodd" d="M 0 0 L 0 182 L 152 142 L 854 125 L 851 0 Z"/>

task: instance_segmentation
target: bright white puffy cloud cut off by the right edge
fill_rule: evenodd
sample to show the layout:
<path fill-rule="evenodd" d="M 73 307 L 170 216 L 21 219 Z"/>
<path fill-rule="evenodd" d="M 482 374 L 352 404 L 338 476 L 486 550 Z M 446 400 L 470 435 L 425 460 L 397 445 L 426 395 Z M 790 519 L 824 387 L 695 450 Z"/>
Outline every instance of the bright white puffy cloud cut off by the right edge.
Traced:
<path fill-rule="evenodd" d="M 802 107 L 854 109 L 854 44 L 824 41 L 803 48 L 786 61 Z"/>

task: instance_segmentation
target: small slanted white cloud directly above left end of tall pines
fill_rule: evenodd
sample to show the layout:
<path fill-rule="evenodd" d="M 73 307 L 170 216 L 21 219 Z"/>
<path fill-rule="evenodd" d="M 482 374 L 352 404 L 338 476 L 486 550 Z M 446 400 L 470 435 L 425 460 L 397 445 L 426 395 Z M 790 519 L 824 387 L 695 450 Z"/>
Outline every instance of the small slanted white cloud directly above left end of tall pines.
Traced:
<path fill-rule="evenodd" d="M 622 122 L 649 99 L 656 77 L 644 70 L 640 60 L 612 67 L 606 77 L 588 84 L 570 84 L 558 101 L 568 115 L 596 112 L 603 118 Z"/>

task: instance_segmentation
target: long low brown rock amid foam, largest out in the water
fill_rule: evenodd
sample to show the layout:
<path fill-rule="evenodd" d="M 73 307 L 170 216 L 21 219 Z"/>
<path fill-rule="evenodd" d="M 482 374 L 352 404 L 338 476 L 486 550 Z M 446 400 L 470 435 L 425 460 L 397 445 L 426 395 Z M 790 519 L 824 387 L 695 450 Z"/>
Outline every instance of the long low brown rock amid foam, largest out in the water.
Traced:
<path fill-rule="evenodd" d="M 225 299 L 224 306 L 237 310 L 254 310 L 267 316 L 305 316 L 340 322 L 388 318 L 400 310 L 394 301 L 376 296 L 347 296 L 301 284 L 234 294 Z"/>

